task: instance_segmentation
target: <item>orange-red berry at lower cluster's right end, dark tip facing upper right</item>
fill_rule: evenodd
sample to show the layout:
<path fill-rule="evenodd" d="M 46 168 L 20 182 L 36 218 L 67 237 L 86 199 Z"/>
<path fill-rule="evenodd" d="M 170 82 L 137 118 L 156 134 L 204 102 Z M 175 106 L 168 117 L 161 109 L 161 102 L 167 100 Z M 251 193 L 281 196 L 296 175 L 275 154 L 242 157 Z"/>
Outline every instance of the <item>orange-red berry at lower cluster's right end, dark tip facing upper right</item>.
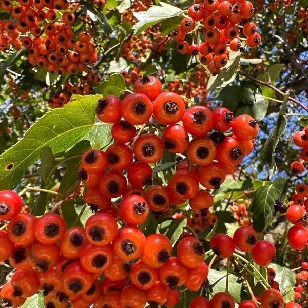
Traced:
<path fill-rule="evenodd" d="M 186 267 L 196 268 L 203 262 L 204 259 L 203 245 L 196 238 L 184 238 L 178 244 L 177 256 Z"/>

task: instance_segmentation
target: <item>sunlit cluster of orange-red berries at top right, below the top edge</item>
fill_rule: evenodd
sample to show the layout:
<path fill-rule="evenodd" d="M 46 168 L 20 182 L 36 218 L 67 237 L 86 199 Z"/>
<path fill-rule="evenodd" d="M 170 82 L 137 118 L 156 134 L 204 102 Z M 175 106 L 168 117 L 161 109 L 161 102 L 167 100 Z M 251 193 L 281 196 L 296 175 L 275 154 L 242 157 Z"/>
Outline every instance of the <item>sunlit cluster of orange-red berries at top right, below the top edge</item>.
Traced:
<path fill-rule="evenodd" d="M 178 42 L 179 53 L 199 56 L 200 63 L 208 66 L 211 73 L 219 73 L 227 64 L 228 46 L 232 51 L 244 50 L 239 38 L 240 23 L 244 24 L 246 45 L 257 47 L 260 44 L 261 36 L 256 24 L 247 22 L 253 12 L 253 4 L 246 0 L 205 0 L 203 4 L 195 3 L 189 7 L 188 16 L 172 31 L 171 36 Z M 187 33 L 194 32 L 197 36 L 198 31 L 204 35 L 203 43 L 189 44 L 185 41 Z"/>

